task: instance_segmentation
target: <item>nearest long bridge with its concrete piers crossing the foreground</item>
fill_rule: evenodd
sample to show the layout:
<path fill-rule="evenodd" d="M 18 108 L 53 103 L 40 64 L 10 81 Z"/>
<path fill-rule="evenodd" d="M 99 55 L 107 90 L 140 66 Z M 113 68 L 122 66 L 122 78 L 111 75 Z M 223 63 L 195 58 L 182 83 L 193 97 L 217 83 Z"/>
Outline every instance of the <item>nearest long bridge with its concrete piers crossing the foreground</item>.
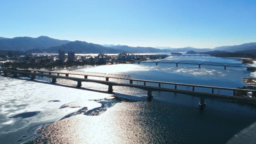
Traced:
<path fill-rule="evenodd" d="M 108 93 L 110 94 L 113 93 L 113 86 L 126 86 L 126 87 L 132 87 L 132 88 L 139 88 L 142 90 L 146 90 L 148 92 L 147 97 L 149 100 L 151 100 L 151 98 L 153 97 L 152 96 L 153 91 L 193 94 L 194 96 L 197 96 L 200 98 L 199 106 L 201 107 L 205 106 L 204 98 L 206 98 L 207 96 L 210 96 L 211 98 L 218 97 L 218 98 L 227 98 L 232 100 L 243 100 L 246 102 L 253 102 L 253 103 L 256 102 L 256 90 L 133 79 L 129 75 L 120 75 L 120 74 L 105 74 L 105 73 L 97 73 L 97 72 L 80 72 L 80 71 L 67 71 L 67 72 L 51 71 L 50 72 L 50 71 L 38 71 L 38 70 L 9 70 L 9 69 L 3 69 L 3 68 L 0 69 L 0 74 L 3 74 L 3 76 L 12 75 L 14 78 L 18 77 L 19 75 L 26 75 L 26 76 L 29 76 L 31 80 L 36 79 L 36 76 L 48 77 L 52 79 L 52 83 L 56 83 L 57 82 L 56 79 L 73 80 L 77 82 L 77 87 L 81 87 L 82 82 L 94 82 L 94 83 L 107 85 Z M 76 76 L 80 76 L 80 77 L 76 77 Z M 105 80 L 89 79 L 88 76 L 104 77 Z M 121 79 L 121 80 L 125 80 L 125 82 L 120 83 L 120 82 L 109 81 L 109 78 Z M 228 91 L 232 94 L 224 94 L 221 92 L 222 90 Z M 248 93 L 251 93 L 252 97 L 248 97 L 247 96 Z"/>

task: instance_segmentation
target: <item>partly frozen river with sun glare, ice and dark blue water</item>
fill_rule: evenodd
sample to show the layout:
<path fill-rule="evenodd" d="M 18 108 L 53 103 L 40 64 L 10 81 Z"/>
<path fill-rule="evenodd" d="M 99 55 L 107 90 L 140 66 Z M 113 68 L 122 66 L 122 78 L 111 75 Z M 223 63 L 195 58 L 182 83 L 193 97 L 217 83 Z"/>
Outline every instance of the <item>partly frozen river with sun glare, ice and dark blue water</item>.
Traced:
<path fill-rule="evenodd" d="M 168 57 L 166 60 L 241 63 L 216 57 Z M 181 64 L 114 64 L 90 66 L 78 71 L 126 74 L 132 78 L 223 86 L 244 86 L 242 79 L 255 74 L 245 68 Z M 89 77 L 91 78 L 91 77 Z M 22 80 L 24 79 L 24 80 Z M 104 78 L 97 78 L 104 80 Z M 47 78 L 12 79 L 0 76 L 0 141 L 3 143 L 178 143 L 216 144 L 256 121 L 256 107 L 243 102 L 206 99 L 172 92 L 152 92 L 114 86 L 114 95 L 67 88 L 76 82 Z M 119 80 L 118 82 L 122 82 Z M 107 86 L 82 82 L 82 87 L 107 90 Z M 56 122 L 58 121 L 58 122 Z M 52 123 L 56 122 L 56 123 Z M 42 127 L 43 126 L 43 127 Z M 40 128 L 42 127 L 42 128 Z M 35 131 L 42 132 L 42 135 Z"/>

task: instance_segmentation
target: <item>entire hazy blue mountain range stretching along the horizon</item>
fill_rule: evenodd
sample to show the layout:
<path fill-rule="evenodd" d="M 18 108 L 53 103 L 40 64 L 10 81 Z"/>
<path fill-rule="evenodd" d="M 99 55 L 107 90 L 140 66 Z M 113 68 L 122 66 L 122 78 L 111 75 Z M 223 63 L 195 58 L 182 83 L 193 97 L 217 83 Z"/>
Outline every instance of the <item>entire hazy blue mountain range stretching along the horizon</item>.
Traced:
<path fill-rule="evenodd" d="M 236 52 L 243 50 L 256 50 L 256 42 L 236 45 L 236 46 L 220 46 L 213 49 L 210 48 L 171 48 L 171 47 L 131 47 L 112 44 L 93 44 L 82 41 L 68 41 L 49 38 L 48 36 L 39 36 L 38 38 L 31 37 L 15 37 L 4 38 L 0 37 L 0 50 L 14 50 L 27 53 L 57 53 L 58 50 L 75 51 L 76 53 L 117 53 L 126 51 L 129 53 L 146 53 L 146 52 L 208 52 L 213 50 Z"/>

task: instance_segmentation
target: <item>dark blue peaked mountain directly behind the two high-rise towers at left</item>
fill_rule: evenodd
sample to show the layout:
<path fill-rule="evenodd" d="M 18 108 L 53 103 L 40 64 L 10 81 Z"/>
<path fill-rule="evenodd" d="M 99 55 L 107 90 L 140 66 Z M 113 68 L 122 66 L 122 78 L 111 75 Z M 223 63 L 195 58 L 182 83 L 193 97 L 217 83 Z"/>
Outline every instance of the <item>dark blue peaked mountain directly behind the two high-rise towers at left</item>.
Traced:
<path fill-rule="evenodd" d="M 58 50 L 64 50 L 65 52 L 68 51 L 74 51 L 76 53 L 117 53 L 118 50 L 115 50 L 113 48 L 108 48 L 105 46 L 101 46 L 99 44 L 93 44 L 88 42 L 82 42 L 82 41 L 74 41 L 69 42 L 68 44 L 64 44 L 61 46 L 53 46 L 48 49 L 44 49 L 45 52 L 49 53 L 58 53 Z"/>

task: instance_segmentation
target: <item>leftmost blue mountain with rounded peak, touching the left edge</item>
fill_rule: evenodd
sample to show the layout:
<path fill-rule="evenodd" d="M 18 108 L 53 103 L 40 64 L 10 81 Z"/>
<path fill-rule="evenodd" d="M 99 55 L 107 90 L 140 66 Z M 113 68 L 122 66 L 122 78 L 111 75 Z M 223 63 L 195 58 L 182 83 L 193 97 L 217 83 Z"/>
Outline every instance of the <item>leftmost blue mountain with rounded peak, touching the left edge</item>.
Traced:
<path fill-rule="evenodd" d="M 30 49 L 45 49 L 52 46 L 60 46 L 67 44 L 68 40 L 57 40 L 48 36 L 40 36 L 38 38 L 15 37 L 0 39 L 0 50 L 18 50 L 26 51 Z"/>

